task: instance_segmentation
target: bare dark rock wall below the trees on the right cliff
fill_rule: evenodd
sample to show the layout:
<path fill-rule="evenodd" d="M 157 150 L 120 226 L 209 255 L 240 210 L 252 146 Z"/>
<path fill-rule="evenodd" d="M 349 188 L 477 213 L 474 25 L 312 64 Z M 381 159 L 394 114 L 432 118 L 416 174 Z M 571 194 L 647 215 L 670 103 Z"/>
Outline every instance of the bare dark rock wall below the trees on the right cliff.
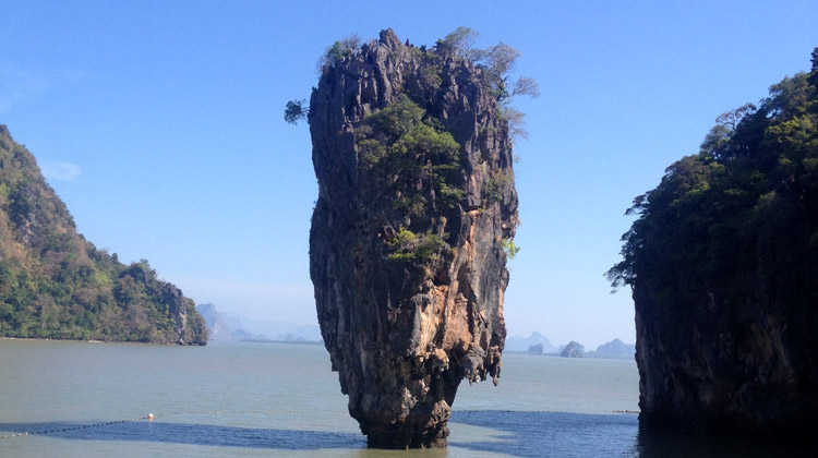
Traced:
<path fill-rule="evenodd" d="M 681 316 L 642 291 L 635 301 L 642 429 L 790 435 L 818 426 L 815 302 L 796 311 L 749 300 L 736 310 L 707 294 Z M 674 318 L 672 333 L 657 332 Z"/>

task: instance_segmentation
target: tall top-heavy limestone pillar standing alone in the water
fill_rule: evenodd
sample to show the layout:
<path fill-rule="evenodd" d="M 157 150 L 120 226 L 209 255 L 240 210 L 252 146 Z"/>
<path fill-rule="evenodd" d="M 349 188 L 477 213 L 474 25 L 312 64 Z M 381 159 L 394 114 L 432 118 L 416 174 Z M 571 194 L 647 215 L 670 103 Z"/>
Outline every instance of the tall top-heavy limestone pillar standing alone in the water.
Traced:
<path fill-rule="evenodd" d="M 407 97 L 457 142 L 450 164 L 424 152 L 402 168 L 364 160 L 368 116 Z M 309 122 L 310 275 L 350 414 L 371 447 L 445 446 L 460 381 L 500 376 L 503 243 L 517 226 L 507 124 L 480 70 L 390 29 L 324 70 Z"/>

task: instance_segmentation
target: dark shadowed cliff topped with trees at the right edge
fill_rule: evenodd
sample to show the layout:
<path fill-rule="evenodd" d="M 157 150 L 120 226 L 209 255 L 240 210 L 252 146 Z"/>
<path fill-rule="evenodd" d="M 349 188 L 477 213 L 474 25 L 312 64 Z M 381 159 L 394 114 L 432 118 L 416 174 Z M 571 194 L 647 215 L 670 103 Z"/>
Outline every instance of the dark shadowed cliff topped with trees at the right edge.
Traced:
<path fill-rule="evenodd" d="M 818 426 L 818 48 L 719 117 L 636 198 L 609 273 L 633 287 L 643 429 Z M 806 436 L 802 436 L 804 438 Z"/>

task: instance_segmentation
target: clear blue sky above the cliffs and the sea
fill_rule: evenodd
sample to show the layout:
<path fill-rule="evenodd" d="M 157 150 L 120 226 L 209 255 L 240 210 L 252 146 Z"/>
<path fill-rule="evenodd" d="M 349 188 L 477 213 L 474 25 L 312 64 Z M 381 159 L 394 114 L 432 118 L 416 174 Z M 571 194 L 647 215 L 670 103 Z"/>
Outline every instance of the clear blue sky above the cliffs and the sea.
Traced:
<path fill-rule="evenodd" d="M 317 186 L 306 98 L 334 40 L 392 27 L 432 45 L 460 25 L 522 52 L 510 335 L 634 341 L 610 294 L 631 200 L 715 117 L 809 69 L 816 1 L 16 1 L 0 9 L 0 123 L 37 157 L 80 232 L 147 258 L 197 303 L 315 323 Z"/>

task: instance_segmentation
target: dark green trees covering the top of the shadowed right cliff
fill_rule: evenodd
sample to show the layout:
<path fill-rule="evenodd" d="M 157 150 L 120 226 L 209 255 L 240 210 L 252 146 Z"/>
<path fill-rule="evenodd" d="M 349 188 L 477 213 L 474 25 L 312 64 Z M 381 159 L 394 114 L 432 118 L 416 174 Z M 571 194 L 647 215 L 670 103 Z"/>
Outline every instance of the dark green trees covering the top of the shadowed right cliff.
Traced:
<path fill-rule="evenodd" d="M 639 218 L 623 236 L 623 261 L 606 274 L 614 289 L 629 285 L 684 306 L 701 291 L 737 304 L 758 275 L 771 291 L 815 282 L 815 73 L 784 79 L 758 107 L 719 117 L 698 155 L 673 164 L 634 201 L 628 214 Z"/>

